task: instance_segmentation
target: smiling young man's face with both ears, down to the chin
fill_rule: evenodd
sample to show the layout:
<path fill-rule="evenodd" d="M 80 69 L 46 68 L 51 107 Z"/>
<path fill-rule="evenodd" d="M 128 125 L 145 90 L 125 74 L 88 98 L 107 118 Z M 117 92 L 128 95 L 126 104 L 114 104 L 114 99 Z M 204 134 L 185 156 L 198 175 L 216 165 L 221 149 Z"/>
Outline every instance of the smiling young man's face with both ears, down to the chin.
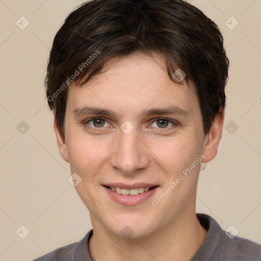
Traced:
<path fill-rule="evenodd" d="M 223 116 L 205 136 L 195 86 L 173 83 L 159 56 L 133 54 L 104 69 L 69 86 L 59 149 L 82 178 L 75 188 L 93 227 L 148 236 L 195 213 L 200 163 L 216 155 Z"/>

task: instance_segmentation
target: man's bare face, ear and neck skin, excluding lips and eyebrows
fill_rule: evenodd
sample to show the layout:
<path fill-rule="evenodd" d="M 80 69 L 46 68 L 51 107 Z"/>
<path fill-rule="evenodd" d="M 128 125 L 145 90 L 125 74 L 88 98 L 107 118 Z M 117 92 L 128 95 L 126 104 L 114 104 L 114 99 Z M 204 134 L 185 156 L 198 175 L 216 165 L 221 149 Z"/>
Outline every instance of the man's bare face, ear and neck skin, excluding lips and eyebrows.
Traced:
<path fill-rule="evenodd" d="M 65 138 L 54 123 L 63 159 L 70 163 L 71 173 L 82 178 L 75 188 L 90 212 L 94 230 L 89 241 L 90 255 L 102 261 L 191 260 L 207 234 L 195 215 L 200 164 L 157 206 L 151 201 L 164 193 L 200 154 L 205 156 L 202 162 L 215 158 L 224 111 L 205 135 L 194 84 L 173 83 L 160 55 L 154 54 L 152 59 L 136 53 L 112 59 L 103 69 L 104 73 L 84 87 L 73 82 L 68 88 Z M 110 109 L 117 117 L 73 114 L 85 106 Z M 170 106 L 178 106 L 188 114 L 141 114 Z M 98 116 L 105 119 L 102 127 L 94 125 L 97 121 L 87 122 Z M 169 119 L 163 121 L 165 128 L 158 118 Z M 126 120 L 134 126 L 129 134 L 120 128 Z M 150 182 L 159 187 L 149 199 L 126 206 L 108 196 L 102 184 L 109 182 Z M 133 231 L 128 238 L 121 233 L 126 225 Z"/>

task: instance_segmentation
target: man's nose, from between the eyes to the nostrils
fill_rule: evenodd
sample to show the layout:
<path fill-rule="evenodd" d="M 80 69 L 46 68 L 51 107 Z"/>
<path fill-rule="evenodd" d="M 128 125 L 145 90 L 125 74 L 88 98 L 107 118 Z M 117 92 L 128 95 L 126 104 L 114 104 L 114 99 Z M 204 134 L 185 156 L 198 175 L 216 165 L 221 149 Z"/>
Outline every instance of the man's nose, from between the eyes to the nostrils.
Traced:
<path fill-rule="evenodd" d="M 129 134 L 120 130 L 111 154 L 111 166 L 123 174 L 137 173 L 149 166 L 149 149 L 136 128 Z"/>

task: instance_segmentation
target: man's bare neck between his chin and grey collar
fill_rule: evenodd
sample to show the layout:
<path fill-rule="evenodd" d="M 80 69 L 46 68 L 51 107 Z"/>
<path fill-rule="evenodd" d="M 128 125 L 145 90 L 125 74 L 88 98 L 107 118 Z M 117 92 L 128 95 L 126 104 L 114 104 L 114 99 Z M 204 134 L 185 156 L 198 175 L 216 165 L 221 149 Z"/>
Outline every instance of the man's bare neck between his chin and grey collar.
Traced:
<path fill-rule="evenodd" d="M 199 250 L 207 234 L 195 212 L 175 218 L 144 238 L 118 237 L 96 222 L 93 222 L 93 231 L 89 241 L 90 255 L 92 260 L 102 261 L 189 261 Z"/>

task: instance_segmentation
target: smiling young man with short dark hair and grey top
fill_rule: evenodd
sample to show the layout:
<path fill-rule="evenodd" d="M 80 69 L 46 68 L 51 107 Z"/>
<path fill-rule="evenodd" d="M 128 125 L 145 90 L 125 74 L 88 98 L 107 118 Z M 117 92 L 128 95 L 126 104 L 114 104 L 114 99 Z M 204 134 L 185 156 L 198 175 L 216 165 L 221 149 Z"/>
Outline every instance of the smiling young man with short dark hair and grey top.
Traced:
<path fill-rule="evenodd" d="M 260 260 L 195 214 L 222 135 L 229 61 L 181 0 L 93 0 L 57 33 L 46 76 L 63 159 L 93 229 L 43 260 Z"/>

